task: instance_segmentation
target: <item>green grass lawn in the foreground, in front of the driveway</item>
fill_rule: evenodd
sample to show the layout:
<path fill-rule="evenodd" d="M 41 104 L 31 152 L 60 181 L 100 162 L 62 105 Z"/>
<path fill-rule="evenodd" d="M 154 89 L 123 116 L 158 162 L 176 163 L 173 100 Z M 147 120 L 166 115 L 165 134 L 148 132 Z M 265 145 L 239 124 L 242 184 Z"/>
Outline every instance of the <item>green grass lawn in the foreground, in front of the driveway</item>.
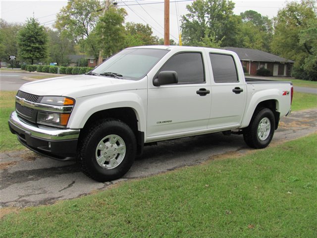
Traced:
<path fill-rule="evenodd" d="M 317 237 L 316 155 L 313 134 L 121 182 L 6 215 L 0 237 Z"/>

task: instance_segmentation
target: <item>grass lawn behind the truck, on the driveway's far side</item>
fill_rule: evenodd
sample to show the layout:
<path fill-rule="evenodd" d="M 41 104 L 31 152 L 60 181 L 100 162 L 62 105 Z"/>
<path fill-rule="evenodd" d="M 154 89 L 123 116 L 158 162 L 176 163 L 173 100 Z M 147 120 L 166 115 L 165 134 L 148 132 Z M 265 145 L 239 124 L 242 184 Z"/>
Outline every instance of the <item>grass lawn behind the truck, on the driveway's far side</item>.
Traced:
<path fill-rule="evenodd" d="M 16 92 L 0 92 L 0 152 L 25 148 L 17 141 L 8 128 L 9 115 L 14 111 L 14 97 Z M 317 95 L 307 93 L 294 93 L 292 111 L 299 111 L 317 107 Z"/>

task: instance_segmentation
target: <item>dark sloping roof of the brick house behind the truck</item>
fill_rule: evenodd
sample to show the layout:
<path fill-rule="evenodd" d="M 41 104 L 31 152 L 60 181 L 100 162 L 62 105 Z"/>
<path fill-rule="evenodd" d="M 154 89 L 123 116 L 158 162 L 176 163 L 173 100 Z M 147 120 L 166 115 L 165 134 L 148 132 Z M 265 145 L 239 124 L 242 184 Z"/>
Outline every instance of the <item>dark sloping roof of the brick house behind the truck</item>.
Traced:
<path fill-rule="evenodd" d="M 263 62 L 282 62 L 282 63 L 294 63 L 293 60 L 287 60 L 279 56 L 275 56 L 273 54 L 254 50 L 247 48 L 237 48 L 237 47 L 224 47 L 223 49 L 228 51 L 233 51 L 237 53 L 240 60 L 246 61 L 263 61 Z"/>

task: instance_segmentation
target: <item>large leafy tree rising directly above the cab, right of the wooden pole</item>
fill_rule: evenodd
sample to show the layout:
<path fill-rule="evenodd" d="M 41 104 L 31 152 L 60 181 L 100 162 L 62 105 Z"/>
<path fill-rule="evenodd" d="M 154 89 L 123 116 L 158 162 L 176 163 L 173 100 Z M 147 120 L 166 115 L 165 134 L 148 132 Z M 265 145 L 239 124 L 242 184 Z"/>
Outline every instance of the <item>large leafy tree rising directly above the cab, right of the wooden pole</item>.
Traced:
<path fill-rule="evenodd" d="M 241 17 L 233 14 L 234 3 L 227 0 L 196 0 L 186 6 L 181 29 L 185 45 L 239 46 Z"/>

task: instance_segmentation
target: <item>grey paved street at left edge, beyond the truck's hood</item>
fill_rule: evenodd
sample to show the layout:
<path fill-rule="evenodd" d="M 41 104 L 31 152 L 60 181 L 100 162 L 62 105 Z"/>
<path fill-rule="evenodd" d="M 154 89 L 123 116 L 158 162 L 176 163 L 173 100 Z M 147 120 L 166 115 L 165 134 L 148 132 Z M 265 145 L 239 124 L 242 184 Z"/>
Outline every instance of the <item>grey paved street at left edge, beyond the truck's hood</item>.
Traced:
<path fill-rule="evenodd" d="M 0 90 L 1 91 L 17 91 L 22 84 L 29 81 L 23 80 L 23 77 L 35 76 L 38 74 L 26 72 L 0 72 Z"/>

